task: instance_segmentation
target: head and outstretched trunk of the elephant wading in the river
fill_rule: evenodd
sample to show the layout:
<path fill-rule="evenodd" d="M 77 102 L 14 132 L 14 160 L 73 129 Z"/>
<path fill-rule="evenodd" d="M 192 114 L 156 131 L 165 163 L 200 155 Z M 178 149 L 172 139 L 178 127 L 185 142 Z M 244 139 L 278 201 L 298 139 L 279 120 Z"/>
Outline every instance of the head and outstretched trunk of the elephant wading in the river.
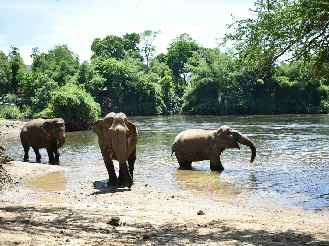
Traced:
<path fill-rule="evenodd" d="M 256 147 L 249 138 L 228 126 L 222 126 L 218 129 L 218 131 L 219 134 L 216 136 L 215 147 L 220 148 L 222 152 L 226 148 L 238 148 L 240 150 L 238 143 L 247 145 L 251 149 L 250 162 L 254 162 L 256 157 Z"/>

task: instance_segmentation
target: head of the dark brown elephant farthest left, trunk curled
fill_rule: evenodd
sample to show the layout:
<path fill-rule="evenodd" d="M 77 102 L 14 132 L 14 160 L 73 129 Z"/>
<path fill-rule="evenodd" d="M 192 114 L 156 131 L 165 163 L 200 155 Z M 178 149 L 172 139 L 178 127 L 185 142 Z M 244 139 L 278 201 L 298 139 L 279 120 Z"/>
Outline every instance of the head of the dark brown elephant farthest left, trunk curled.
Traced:
<path fill-rule="evenodd" d="M 58 144 L 54 146 L 55 149 L 63 147 L 65 143 L 65 124 L 63 119 L 46 120 L 41 125 L 41 130 L 45 133 L 45 137 L 50 142 L 58 141 Z"/>

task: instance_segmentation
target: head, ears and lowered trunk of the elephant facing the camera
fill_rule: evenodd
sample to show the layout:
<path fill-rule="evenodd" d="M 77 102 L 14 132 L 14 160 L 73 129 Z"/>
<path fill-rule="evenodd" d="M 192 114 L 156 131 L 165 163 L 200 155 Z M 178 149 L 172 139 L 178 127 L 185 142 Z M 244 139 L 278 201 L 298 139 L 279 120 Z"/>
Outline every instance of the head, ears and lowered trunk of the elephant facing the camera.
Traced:
<path fill-rule="evenodd" d="M 136 147 L 138 131 L 136 126 L 127 120 L 124 113 L 109 113 L 103 120 L 97 120 L 92 125 L 92 131 L 103 142 L 103 147 L 110 153 L 111 159 L 117 160 L 128 182 L 128 188 L 133 184 L 127 157 Z M 104 158 L 104 155 L 103 155 Z M 104 159 L 105 161 L 105 159 Z"/>

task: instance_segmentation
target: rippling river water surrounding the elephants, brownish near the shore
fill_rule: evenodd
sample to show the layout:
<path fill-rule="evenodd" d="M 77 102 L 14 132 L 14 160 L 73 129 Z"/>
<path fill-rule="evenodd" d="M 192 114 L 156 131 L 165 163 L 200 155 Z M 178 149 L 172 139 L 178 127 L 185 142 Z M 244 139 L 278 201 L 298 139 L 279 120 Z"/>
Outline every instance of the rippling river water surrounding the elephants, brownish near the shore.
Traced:
<path fill-rule="evenodd" d="M 149 184 L 165 191 L 183 192 L 247 206 L 307 210 L 329 209 L 329 115 L 266 116 L 132 116 L 139 131 L 134 186 Z M 257 156 L 250 163 L 251 150 L 240 145 L 221 155 L 222 172 L 210 171 L 209 161 L 193 162 L 192 169 L 181 169 L 175 155 L 168 160 L 177 134 L 191 128 L 215 130 L 228 125 L 249 137 Z M 22 160 L 19 135 L 8 135 L 7 155 Z M 60 149 L 61 165 L 67 170 L 25 180 L 35 189 L 59 190 L 74 182 L 108 178 L 91 131 L 67 132 Z M 48 160 L 45 149 L 40 149 Z M 30 158 L 35 158 L 30 150 Z M 118 173 L 118 163 L 114 163 Z"/>

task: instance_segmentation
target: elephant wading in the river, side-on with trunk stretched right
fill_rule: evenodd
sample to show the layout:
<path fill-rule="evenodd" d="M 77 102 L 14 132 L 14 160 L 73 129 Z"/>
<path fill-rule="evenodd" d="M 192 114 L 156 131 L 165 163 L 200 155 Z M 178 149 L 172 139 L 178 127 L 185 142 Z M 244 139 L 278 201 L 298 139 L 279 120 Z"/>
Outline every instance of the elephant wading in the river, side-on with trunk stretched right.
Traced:
<path fill-rule="evenodd" d="M 175 152 L 181 167 L 190 167 L 192 161 L 210 160 L 210 169 L 224 170 L 219 159 L 220 154 L 226 148 L 238 148 L 240 150 L 238 143 L 250 147 L 250 162 L 253 163 L 256 157 L 255 144 L 249 138 L 228 126 L 222 126 L 215 131 L 190 129 L 181 132 L 175 137 L 171 156 Z"/>

